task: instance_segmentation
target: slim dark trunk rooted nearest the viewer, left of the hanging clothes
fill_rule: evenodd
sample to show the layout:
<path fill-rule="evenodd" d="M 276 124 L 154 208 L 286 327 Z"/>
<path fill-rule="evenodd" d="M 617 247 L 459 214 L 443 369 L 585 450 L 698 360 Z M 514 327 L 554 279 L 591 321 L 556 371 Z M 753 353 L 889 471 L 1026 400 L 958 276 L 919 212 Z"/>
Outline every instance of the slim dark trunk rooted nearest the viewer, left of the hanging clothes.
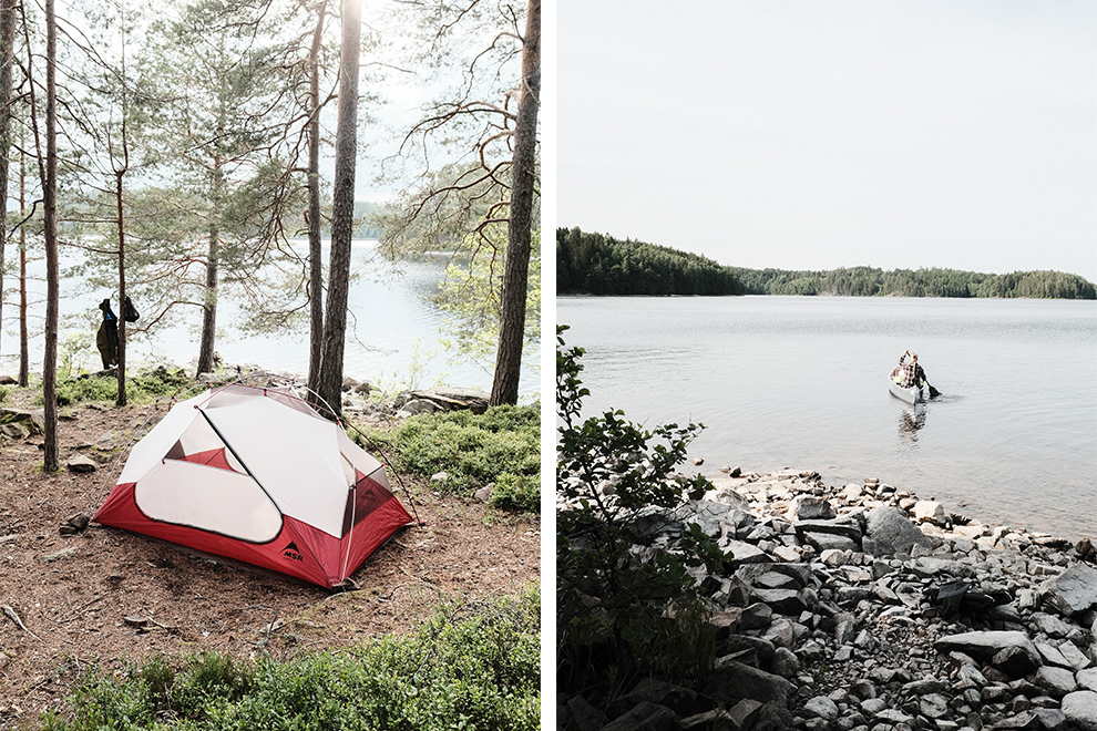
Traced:
<path fill-rule="evenodd" d="M 42 198 L 45 219 L 45 356 L 42 366 L 42 397 L 45 401 L 45 471 L 57 472 L 58 454 L 58 299 L 61 276 L 58 270 L 58 25 L 53 0 L 45 0 L 45 179 Z"/>

